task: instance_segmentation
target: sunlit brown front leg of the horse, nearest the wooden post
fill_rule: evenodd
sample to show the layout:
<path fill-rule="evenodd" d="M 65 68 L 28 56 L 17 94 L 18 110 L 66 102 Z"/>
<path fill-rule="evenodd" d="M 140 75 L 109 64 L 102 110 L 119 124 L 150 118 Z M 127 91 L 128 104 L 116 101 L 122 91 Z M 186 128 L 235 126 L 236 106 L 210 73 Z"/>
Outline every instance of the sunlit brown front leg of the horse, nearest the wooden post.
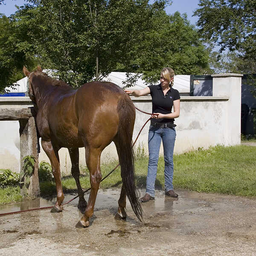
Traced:
<path fill-rule="evenodd" d="M 51 141 L 41 141 L 42 148 L 49 157 L 52 166 L 52 174 L 56 184 L 57 201 L 55 206 L 51 209 L 51 212 L 61 212 L 63 210 L 62 202 L 64 200 L 64 194 L 61 185 L 61 172 L 60 172 L 60 160 L 58 156 L 58 148 L 52 146 Z"/>

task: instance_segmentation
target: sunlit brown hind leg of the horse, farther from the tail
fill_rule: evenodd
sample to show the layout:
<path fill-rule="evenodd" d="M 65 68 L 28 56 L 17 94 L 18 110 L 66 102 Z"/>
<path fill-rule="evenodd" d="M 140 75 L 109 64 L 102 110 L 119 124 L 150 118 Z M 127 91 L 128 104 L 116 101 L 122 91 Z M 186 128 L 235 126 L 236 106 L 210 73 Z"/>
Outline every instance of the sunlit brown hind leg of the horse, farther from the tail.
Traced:
<path fill-rule="evenodd" d="M 99 183 L 102 179 L 100 172 L 100 155 L 99 148 L 85 148 L 86 164 L 90 172 L 90 196 L 84 215 L 76 224 L 76 227 L 89 227 L 89 218 L 93 215 L 93 209 L 96 201 L 97 192 L 99 190 Z"/>

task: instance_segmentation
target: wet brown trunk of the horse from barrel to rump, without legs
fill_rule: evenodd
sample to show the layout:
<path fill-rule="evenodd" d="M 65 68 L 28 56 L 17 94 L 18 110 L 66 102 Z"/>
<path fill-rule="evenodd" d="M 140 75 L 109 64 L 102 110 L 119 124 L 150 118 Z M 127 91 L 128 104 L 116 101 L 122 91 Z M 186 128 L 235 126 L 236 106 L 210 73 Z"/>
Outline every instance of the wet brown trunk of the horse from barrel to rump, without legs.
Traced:
<path fill-rule="evenodd" d="M 90 143 L 104 148 L 118 131 L 120 99 L 132 104 L 130 97 L 110 82 L 90 82 L 52 97 L 47 111 L 49 137 L 59 147 Z"/>

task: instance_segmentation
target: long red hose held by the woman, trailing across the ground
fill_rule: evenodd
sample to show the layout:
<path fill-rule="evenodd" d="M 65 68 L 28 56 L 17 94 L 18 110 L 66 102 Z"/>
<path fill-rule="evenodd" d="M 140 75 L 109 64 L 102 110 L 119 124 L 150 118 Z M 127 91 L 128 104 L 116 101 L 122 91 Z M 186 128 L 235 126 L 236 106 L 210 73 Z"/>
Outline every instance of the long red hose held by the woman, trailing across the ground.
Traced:
<path fill-rule="evenodd" d="M 140 111 L 140 112 L 142 112 L 142 113 L 144 113 L 144 114 L 152 115 L 152 113 L 148 113 L 148 112 L 142 111 L 142 110 L 140 110 L 139 108 L 137 108 L 137 107 L 135 107 L 135 106 L 134 106 L 134 108 L 136 108 L 138 111 Z M 150 119 L 151 119 L 151 117 L 148 118 L 148 120 L 145 122 L 145 124 L 144 124 L 144 125 L 142 126 L 142 128 L 140 129 L 140 131 L 139 131 L 139 133 L 138 133 L 136 139 L 134 140 L 134 143 L 133 143 L 132 147 L 134 146 L 134 144 L 135 144 L 136 141 L 138 140 L 138 137 L 140 136 L 141 131 L 143 130 L 143 128 L 145 127 L 145 125 L 148 123 L 148 121 L 149 121 Z M 120 165 L 120 164 L 118 164 L 111 172 L 109 172 L 105 177 L 103 177 L 100 182 L 102 182 L 103 180 L 105 180 L 105 178 L 107 178 L 109 175 L 111 175 L 111 173 L 113 173 L 113 172 L 116 170 L 116 168 L 119 167 L 119 165 Z M 84 190 L 84 191 L 83 191 L 83 194 L 85 194 L 86 192 L 88 192 L 90 189 L 91 189 L 91 188 L 88 188 L 88 189 Z M 63 206 L 63 205 L 65 205 L 65 204 L 68 204 L 68 203 L 70 203 L 71 201 L 75 200 L 75 199 L 78 198 L 78 197 L 79 197 L 79 195 L 76 195 L 74 198 L 70 199 L 69 201 L 67 201 L 66 203 L 61 204 L 61 205 Z M 10 214 L 15 214 L 15 213 L 21 213 L 21 212 L 30 212 L 30 211 L 42 210 L 42 209 L 50 209 L 50 208 L 52 208 L 52 207 L 54 207 L 54 205 L 52 205 L 52 206 L 47 206 L 47 207 L 32 208 L 32 209 L 27 209 L 27 210 L 22 210 L 22 211 L 17 211 L 17 212 L 0 213 L 0 216 L 10 215 Z"/>

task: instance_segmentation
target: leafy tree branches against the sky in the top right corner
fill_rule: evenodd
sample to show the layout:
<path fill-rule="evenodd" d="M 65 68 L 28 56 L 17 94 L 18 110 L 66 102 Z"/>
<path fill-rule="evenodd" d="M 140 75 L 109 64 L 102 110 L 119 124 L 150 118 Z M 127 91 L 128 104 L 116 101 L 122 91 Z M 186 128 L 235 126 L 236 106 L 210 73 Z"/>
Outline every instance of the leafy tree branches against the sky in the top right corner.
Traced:
<path fill-rule="evenodd" d="M 199 0 L 201 35 L 234 52 L 239 70 L 256 73 L 256 0 Z"/>

